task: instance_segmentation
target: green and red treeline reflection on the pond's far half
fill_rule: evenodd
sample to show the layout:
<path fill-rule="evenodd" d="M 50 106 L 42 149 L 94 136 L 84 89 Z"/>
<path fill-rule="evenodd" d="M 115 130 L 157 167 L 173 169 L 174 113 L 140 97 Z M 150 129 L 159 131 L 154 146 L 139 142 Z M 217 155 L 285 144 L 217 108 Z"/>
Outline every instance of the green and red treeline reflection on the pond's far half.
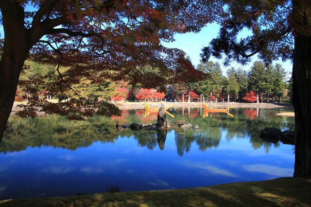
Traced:
<path fill-rule="evenodd" d="M 38 116 L 35 119 L 21 119 L 11 116 L 8 121 L 8 129 L 0 144 L 0 152 L 15 152 L 25 150 L 27 147 L 52 146 L 76 150 L 78 147 L 87 147 L 94 142 L 113 143 L 118 138 L 134 137 L 140 146 L 154 149 L 156 145 L 164 150 L 168 132 L 173 131 L 178 156 L 188 153 L 192 143 L 196 143 L 200 150 L 217 148 L 221 139 L 230 142 L 233 138 L 249 139 L 252 147 L 269 149 L 278 147 L 279 143 L 263 142 L 259 138 L 260 131 L 265 127 L 276 127 L 281 130 L 293 130 L 294 118 L 276 116 L 275 114 L 286 110 L 254 110 L 254 109 L 230 109 L 234 117 L 226 113 L 209 113 L 202 117 L 202 108 L 175 108 L 170 113 L 174 117 L 167 117 L 168 122 L 183 119 L 193 126 L 192 128 L 168 128 L 165 130 L 132 131 L 129 128 L 116 129 L 115 125 L 141 123 L 150 124 L 156 122 L 156 114 L 144 116 L 143 110 L 123 111 L 121 117 L 89 117 L 86 121 L 68 121 L 61 116 Z"/>

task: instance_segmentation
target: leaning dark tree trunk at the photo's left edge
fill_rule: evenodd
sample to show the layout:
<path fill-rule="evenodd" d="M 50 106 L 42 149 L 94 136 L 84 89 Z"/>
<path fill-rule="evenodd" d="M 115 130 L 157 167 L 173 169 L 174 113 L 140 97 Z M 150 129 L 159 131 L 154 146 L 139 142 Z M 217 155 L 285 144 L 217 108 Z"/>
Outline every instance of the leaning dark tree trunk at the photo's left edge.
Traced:
<path fill-rule="evenodd" d="M 0 60 L 0 142 L 10 116 L 17 89 L 17 81 L 28 49 L 24 29 L 24 11 L 18 2 L 0 2 L 2 25 L 5 33 Z"/>

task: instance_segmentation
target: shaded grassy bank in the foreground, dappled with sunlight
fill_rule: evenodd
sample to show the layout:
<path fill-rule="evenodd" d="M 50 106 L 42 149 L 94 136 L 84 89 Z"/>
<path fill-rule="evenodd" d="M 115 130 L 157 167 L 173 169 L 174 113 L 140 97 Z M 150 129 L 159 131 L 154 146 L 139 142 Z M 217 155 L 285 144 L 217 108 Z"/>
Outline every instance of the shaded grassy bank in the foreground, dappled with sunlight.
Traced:
<path fill-rule="evenodd" d="M 0 206 L 311 206 L 311 180 L 283 177 L 194 189 L 132 191 L 0 201 Z"/>

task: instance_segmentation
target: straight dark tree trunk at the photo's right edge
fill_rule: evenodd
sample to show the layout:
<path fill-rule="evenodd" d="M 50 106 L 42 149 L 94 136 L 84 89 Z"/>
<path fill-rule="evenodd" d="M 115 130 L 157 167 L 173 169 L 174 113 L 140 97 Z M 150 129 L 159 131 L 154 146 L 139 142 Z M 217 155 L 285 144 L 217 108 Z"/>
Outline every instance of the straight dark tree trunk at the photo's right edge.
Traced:
<path fill-rule="evenodd" d="M 294 177 L 311 178 L 311 37 L 294 37 L 293 105 L 295 112 Z"/>

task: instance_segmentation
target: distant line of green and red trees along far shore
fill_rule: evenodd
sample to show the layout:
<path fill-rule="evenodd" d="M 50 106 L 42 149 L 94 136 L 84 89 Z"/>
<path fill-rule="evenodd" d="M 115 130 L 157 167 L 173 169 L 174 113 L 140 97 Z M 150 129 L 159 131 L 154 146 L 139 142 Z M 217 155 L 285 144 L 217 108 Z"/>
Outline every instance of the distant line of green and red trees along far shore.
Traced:
<path fill-rule="evenodd" d="M 157 71 L 151 66 L 143 69 L 153 73 Z M 102 79 L 94 82 L 87 78 L 77 80 L 77 84 L 71 85 L 72 90 L 62 91 L 63 83 L 59 80 L 59 76 L 55 75 L 51 65 L 26 61 L 15 100 L 28 101 L 31 98 L 63 100 L 80 96 L 112 101 L 165 99 L 166 101 L 281 102 L 281 99 L 288 101 L 292 96 L 292 80 L 287 79 L 287 73 L 280 64 L 266 66 L 263 62 L 257 61 L 249 71 L 232 67 L 224 76 L 220 64 L 209 61 L 198 64 L 197 70 L 206 73 L 207 78 L 197 82 L 183 81 L 169 84 L 164 92 L 145 89 L 139 84 L 131 85 L 126 79 L 121 81 Z M 60 71 L 66 71 L 66 68 L 61 68 Z M 59 82 L 59 87 L 54 86 L 55 82 Z"/>

